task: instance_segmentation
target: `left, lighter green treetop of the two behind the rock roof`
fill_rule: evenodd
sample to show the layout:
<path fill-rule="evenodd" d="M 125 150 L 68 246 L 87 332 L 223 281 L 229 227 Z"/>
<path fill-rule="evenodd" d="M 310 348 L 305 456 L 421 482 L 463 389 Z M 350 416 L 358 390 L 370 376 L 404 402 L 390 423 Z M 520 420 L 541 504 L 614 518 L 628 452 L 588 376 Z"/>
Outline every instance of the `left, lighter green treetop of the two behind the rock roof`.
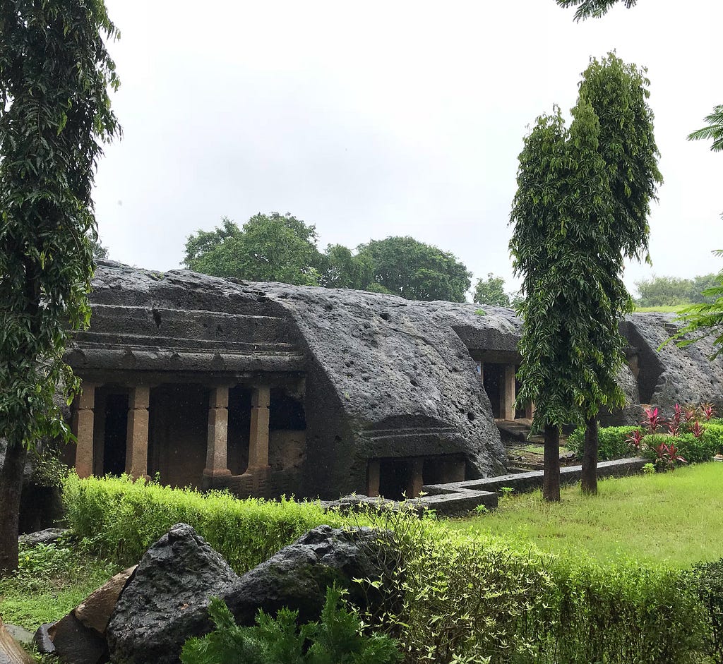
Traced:
<path fill-rule="evenodd" d="M 223 217 L 223 226 L 188 237 L 184 264 L 215 277 L 319 285 L 317 233 L 291 214 L 251 217 L 239 227 Z"/>

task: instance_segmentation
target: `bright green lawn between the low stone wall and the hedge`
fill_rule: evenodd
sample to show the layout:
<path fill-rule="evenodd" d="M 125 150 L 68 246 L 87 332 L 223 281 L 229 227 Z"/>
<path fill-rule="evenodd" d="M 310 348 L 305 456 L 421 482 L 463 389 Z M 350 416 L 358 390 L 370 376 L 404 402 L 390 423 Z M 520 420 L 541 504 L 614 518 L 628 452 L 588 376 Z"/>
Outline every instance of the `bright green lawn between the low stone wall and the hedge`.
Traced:
<path fill-rule="evenodd" d="M 500 509 L 454 519 L 455 530 L 512 539 L 601 563 L 621 558 L 683 568 L 723 556 L 723 463 L 682 467 L 599 483 L 598 496 L 562 488 L 562 501 L 539 491 L 503 496 Z"/>

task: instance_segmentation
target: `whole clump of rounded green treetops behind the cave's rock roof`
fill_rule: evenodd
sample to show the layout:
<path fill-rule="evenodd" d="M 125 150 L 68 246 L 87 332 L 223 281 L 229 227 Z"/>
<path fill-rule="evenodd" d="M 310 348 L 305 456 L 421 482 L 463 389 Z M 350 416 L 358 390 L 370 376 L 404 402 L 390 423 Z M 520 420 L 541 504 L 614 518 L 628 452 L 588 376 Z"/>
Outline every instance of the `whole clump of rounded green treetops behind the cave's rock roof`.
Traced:
<path fill-rule="evenodd" d="M 455 256 L 414 238 L 360 244 L 354 254 L 340 244 L 317 249 L 317 233 L 290 214 L 258 214 L 239 227 L 223 218 L 213 231 L 186 242 L 184 265 L 215 277 L 280 281 L 327 288 L 356 288 L 408 300 L 463 302 L 470 273 Z"/>

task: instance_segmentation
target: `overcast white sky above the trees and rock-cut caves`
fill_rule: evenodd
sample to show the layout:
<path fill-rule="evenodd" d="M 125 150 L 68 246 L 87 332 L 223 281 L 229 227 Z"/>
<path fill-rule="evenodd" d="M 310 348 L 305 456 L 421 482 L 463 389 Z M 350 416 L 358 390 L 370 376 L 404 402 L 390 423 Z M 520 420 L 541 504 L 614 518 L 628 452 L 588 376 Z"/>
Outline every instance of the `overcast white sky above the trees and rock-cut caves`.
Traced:
<path fill-rule="evenodd" d="M 96 181 L 111 258 L 179 267 L 189 233 L 291 212 L 320 249 L 411 235 L 511 289 L 527 126 L 575 103 L 590 56 L 647 66 L 664 184 L 656 275 L 718 272 L 723 154 L 685 136 L 723 103 L 720 0 L 639 0 L 573 22 L 554 0 L 106 0 L 124 138 Z"/>

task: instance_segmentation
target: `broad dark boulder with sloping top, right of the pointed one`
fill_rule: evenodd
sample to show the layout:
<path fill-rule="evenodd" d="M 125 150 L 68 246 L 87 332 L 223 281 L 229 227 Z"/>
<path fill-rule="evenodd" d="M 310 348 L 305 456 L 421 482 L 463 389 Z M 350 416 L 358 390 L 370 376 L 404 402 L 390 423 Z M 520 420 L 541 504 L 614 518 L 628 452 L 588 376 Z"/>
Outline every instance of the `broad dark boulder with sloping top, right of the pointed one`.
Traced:
<path fill-rule="evenodd" d="M 381 595 L 364 595 L 353 579 L 380 579 L 398 564 L 395 551 L 391 540 L 369 528 L 319 526 L 244 574 L 223 599 L 242 625 L 254 624 L 259 608 L 275 613 L 283 606 L 299 611 L 301 622 L 317 620 L 334 583 L 349 590 L 357 606 L 375 608 Z"/>

